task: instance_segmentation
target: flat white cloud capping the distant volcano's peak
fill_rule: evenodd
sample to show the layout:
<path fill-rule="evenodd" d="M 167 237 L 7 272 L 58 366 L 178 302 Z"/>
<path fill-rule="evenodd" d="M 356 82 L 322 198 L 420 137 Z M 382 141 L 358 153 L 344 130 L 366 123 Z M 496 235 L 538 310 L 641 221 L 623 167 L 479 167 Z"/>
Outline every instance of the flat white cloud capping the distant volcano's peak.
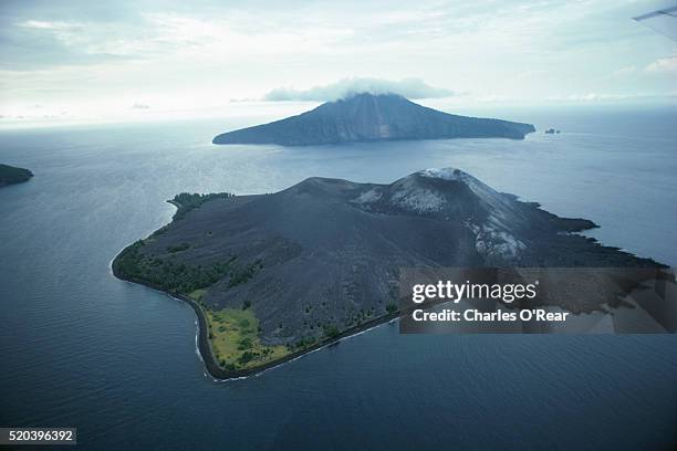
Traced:
<path fill-rule="evenodd" d="M 326 102 L 347 97 L 352 94 L 399 94 L 407 98 L 438 98 L 454 95 L 452 91 L 426 84 L 420 78 L 404 78 L 398 82 L 383 78 L 342 78 L 324 86 L 309 90 L 278 87 L 263 96 L 264 101 L 309 101 Z"/>

